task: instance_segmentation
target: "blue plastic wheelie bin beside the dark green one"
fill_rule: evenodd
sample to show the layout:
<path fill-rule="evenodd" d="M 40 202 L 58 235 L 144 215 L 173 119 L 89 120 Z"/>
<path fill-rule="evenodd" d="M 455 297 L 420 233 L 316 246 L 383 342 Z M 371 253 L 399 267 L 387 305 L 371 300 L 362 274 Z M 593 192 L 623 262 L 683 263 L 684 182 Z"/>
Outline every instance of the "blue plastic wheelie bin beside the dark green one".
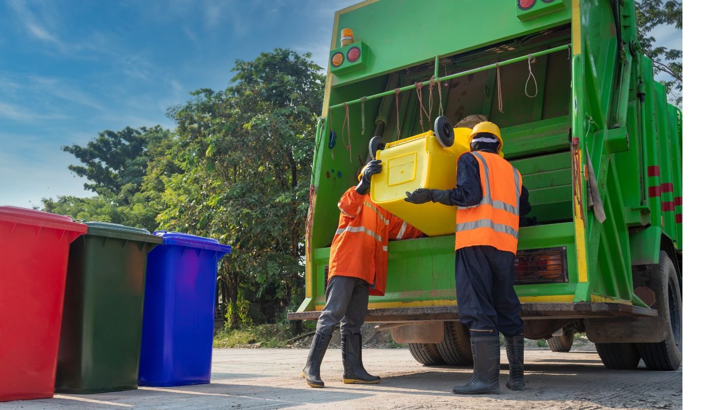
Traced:
<path fill-rule="evenodd" d="M 144 295 L 139 385 L 210 382 L 218 261 L 230 253 L 217 240 L 157 231 Z"/>

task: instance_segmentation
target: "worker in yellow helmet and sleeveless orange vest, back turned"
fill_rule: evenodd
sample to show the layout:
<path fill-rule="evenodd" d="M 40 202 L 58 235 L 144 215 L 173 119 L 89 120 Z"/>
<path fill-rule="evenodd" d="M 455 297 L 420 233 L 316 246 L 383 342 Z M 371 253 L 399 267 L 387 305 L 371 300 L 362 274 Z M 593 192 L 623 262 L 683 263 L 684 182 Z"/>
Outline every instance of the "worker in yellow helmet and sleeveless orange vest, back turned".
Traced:
<path fill-rule="evenodd" d="M 470 328 L 473 375 L 458 394 L 496 394 L 500 385 L 498 333 L 505 336 L 510 375 L 506 384 L 524 390 L 523 321 L 513 289 L 518 222 L 531 210 L 521 173 L 502 154 L 500 129 L 480 122 L 470 134 L 470 152 L 457 162 L 455 189 L 416 189 L 405 201 L 458 207 L 455 227 L 455 287 L 460 321 Z"/>

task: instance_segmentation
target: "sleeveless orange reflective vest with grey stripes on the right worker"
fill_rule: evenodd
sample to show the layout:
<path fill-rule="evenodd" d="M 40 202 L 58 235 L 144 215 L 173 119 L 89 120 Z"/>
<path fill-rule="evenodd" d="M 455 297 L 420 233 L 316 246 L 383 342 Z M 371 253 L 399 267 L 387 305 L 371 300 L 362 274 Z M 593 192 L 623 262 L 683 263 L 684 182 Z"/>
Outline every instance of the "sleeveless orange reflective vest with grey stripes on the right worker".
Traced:
<path fill-rule="evenodd" d="M 483 199 L 477 205 L 458 207 L 455 249 L 490 245 L 501 251 L 518 248 L 518 204 L 521 199 L 521 173 L 498 154 L 475 151 L 478 159 Z"/>

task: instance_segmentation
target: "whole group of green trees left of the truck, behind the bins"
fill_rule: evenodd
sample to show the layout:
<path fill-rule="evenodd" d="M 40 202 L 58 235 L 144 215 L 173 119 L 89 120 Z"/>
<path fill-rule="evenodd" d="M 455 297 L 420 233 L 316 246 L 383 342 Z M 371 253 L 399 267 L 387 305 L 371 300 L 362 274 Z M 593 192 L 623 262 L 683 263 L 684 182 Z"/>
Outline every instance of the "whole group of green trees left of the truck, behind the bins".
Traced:
<path fill-rule="evenodd" d="M 304 229 L 317 111 L 325 77 L 311 55 L 240 61 L 225 90 L 202 89 L 162 127 L 104 131 L 67 146 L 90 198 L 43 208 L 95 221 L 213 237 L 232 245 L 218 288 L 230 327 L 274 322 L 301 302 Z"/>

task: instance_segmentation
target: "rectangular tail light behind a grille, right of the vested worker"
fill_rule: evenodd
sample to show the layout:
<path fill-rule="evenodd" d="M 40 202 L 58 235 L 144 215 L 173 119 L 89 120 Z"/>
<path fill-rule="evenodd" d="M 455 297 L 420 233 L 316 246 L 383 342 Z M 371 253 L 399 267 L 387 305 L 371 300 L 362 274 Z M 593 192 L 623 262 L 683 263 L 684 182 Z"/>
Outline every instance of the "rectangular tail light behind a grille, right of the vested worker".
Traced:
<path fill-rule="evenodd" d="M 569 282 L 566 247 L 518 251 L 515 284 Z"/>

